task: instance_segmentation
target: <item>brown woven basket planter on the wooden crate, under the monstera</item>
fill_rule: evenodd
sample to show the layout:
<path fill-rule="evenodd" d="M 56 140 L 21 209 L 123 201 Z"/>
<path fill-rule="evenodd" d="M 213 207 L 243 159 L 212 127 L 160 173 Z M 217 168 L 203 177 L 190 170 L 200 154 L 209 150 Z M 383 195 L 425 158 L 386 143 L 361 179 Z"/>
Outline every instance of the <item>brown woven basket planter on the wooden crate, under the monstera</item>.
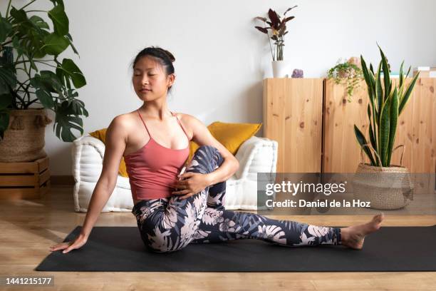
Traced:
<path fill-rule="evenodd" d="M 12 109 L 0 141 L 0 162 L 31 162 L 44 158 L 45 127 L 51 123 L 45 108 Z"/>

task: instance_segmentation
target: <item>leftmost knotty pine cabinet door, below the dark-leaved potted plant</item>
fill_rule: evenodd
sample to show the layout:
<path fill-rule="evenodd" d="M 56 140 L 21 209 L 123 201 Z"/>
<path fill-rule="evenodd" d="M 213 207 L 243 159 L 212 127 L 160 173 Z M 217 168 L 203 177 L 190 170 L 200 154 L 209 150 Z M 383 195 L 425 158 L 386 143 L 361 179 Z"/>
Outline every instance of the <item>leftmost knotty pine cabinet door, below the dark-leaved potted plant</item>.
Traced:
<path fill-rule="evenodd" d="M 264 137 L 279 143 L 278 173 L 319 173 L 322 78 L 264 79 Z"/>

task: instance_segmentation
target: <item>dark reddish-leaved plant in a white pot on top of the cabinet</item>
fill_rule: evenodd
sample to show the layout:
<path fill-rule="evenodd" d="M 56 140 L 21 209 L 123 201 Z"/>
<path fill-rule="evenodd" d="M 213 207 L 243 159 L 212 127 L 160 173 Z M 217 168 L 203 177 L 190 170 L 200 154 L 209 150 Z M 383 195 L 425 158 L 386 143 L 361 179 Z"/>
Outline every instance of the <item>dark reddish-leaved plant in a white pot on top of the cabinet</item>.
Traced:
<path fill-rule="evenodd" d="M 289 32 L 286 31 L 286 23 L 295 18 L 295 16 L 286 17 L 286 13 L 291 9 L 294 9 L 296 6 L 287 9 L 284 12 L 283 19 L 276 13 L 276 11 L 269 9 L 268 17 L 269 21 L 266 17 L 257 16 L 254 19 L 264 21 L 264 27 L 254 26 L 255 29 L 266 34 L 269 41 L 269 48 L 271 49 L 272 56 L 272 68 L 273 68 L 273 76 L 274 78 L 281 78 L 286 75 L 286 70 L 289 66 L 289 63 L 284 61 L 283 58 L 283 47 L 284 47 L 284 36 Z M 266 26 L 268 24 L 268 26 Z M 271 29 L 271 37 L 269 36 L 269 29 Z M 275 50 L 273 53 L 271 47 L 271 39 L 274 41 Z"/>

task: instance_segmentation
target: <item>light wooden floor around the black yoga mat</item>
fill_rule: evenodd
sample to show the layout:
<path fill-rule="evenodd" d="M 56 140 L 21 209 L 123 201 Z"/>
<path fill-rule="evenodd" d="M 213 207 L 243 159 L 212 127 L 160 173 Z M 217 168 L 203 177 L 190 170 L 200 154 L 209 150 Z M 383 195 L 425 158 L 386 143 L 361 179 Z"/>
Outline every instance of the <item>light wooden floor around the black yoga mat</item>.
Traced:
<path fill-rule="evenodd" d="M 41 290 L 436 290 L 436 272 L 37 272 L 85 213 L 75 213 L 73 189 L 53 187 L 39 200 L 0 201 L 0 276 L 53 275 Z M 271 216 L 313 225 L 354 225 L 368 216 Z M 132 213 L 102 213 L 95 226 L 136 226 Z M 390 216 L 385 226 L 436 225 L 435 215 Z M 0 290 L 21 290 L 0 286 Z M 22 290 L 38 290 L 31 287 Z"/>

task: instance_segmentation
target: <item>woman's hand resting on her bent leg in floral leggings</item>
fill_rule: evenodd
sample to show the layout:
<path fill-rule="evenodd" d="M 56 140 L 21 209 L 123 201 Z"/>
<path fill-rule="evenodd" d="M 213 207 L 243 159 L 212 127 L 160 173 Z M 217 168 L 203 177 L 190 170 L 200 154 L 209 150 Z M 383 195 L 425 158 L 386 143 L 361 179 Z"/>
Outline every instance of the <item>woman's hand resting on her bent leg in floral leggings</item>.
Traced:
<path fill-rule="evenodd" d="M 209 175 L 202 173 L 187 172 L 179 176 L 180 180 L 172 184 L 177 191 L 173 195 L 183 195 L 180 199 L 191 197 L 204 190 L 209 185 Z"/>

